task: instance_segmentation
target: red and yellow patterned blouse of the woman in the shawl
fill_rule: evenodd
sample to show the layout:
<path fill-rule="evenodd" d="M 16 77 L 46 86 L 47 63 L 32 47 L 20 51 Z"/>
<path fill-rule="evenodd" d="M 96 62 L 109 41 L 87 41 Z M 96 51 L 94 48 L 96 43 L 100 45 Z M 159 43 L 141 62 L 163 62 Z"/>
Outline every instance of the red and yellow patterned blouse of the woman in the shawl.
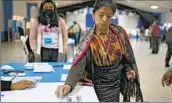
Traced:
<path fill-rule="evenodd" d="M 122 49 L 118 38 L 112 32 L 94 35 L 90 48 L 97 66 L 114 65 L 122 59 Z"/>

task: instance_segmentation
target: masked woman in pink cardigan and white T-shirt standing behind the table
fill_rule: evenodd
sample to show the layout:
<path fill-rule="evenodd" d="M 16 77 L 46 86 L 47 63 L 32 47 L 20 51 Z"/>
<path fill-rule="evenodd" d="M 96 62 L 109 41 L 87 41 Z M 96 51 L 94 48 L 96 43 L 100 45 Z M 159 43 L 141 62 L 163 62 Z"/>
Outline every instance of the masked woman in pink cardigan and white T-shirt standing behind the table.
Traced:
<path fill-rule="evenodd" d="M 29 43 L 35 58 L 42 62 L 63 62 L 68 48 L 65 21 L 58 16 L 52 0 L 44 0 L 38 18 L 32 23 Z"/>

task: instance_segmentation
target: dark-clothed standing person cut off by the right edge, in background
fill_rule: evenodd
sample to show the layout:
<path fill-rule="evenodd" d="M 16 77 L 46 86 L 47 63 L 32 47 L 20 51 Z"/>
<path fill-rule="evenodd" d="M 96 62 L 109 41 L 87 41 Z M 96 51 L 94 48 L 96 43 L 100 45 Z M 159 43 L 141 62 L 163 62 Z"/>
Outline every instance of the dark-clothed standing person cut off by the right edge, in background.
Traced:
<path fill-rule="evenodd" d="M 165 58 L 165 67 L 169 67 L 169 61 L 172 55 L 172 26 L 168 29 L 166 34 L 166 43 L 167 43 L 167 53 Z"/>

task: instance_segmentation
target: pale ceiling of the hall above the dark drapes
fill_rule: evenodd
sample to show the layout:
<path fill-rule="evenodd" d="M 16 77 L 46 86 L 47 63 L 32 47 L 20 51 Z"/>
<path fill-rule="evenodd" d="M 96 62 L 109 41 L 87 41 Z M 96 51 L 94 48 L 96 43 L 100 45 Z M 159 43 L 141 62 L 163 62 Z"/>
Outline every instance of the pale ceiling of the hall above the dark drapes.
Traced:
<path fill-rule="evenodd" d="M 40 4 L 40 0 L 26 0 L 27 2 L 34 2 Z M 57 8 L 73 5 L 73 4 L 80 4 L 83 2 L 88 1 L 95 1 L 95 0 L 53 0 Z M 126 5 L 132 8 L 137 8 L 144 11 L 149 12 L 166 12 L 172 9 L 172 0 L 113 0 L 116 1 L 117 4 Z M 158 9 L 153 10 L 150 8 L 151 5 L 159 6 Z"/>

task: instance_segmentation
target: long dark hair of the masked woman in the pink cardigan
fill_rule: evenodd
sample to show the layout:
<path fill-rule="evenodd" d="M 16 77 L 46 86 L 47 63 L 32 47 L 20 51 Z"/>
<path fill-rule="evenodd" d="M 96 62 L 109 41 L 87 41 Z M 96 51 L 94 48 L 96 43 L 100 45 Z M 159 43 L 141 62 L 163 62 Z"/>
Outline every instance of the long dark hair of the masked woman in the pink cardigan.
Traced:
<path fill-rule="evenodd" d="M 56 10 L 56 5 L 55 3 L 52 1 L 52 0 L 44 0 L 42 3 L 41 3 L 41 6 L 40 6 L 40 10 L 39 10 L 39 16 L 38 16 L 38 21 L 39 23 L 43 24 L 43 25 L 48 25 L 48 22 L 46 20 L 46 17 L 43 13 L 43 6 L 45 3 L 52 3 L 53 6 L 54 6 L 54 13 L 52 15 L 52 18 L 50 19 L 50 27 L 52 26 L 56 26 L 58 27 L 58 14 L 57 14 L 57 10 Z"/>

